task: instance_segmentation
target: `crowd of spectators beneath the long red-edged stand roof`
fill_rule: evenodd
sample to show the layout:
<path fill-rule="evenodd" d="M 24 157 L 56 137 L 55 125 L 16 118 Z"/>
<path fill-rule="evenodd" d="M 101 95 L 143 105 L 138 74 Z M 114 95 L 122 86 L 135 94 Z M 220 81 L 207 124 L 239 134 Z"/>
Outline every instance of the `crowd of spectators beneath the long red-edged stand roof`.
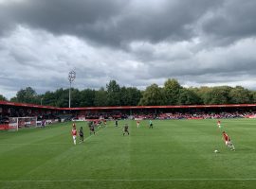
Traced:
<path fill-rule="evenodd" d="M 65 112 L 63 114 L 53 112 L 21 112 L 12 110 L 8 113 L 0 113 L 0 124 L 7 124 L 9 117 L 32 117 L 36 116 L 38 121 L 47 119 L 59 119 L 68 121 L 74 119 L 91 120 L 91 119 L 223 119 L 223 118 L 247 118 L 255 117 L 256 112 L 239 110 L 239 111 L 212 111 L 203 112 L 200 110 L 180 110 L 182 112 L 159 112 L 155 110 L 137 110 L 137 111 L 106 111 L 106 112 Z"/>

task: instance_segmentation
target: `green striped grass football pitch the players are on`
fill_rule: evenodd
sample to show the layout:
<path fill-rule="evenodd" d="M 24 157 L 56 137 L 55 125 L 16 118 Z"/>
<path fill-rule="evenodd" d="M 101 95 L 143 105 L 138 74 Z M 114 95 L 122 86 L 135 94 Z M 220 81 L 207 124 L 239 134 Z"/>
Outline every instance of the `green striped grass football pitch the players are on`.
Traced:
<path fill-rule="evenodd" d="M 256 188 L 256 120 L 223 119 L 222 129 L 216 121 L 154 120 L 154 129 L 147 120 L 138 129 L 132 120 L 108 122 L 96 135 L 77 122 L 85 141 L 76 146 L 71 122 L 1 131 L 0 188 Z"/>

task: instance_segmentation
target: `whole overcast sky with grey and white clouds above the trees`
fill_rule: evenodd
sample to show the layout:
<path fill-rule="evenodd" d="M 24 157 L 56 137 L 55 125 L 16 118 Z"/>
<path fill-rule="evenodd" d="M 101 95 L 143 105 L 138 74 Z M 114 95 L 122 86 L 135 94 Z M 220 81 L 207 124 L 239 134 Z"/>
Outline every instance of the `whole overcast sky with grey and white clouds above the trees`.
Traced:
<path fill-rule="evenodd" d="M 255 0 L 0 0 L 0 94 L 185 87 L 256 89 Z"/>

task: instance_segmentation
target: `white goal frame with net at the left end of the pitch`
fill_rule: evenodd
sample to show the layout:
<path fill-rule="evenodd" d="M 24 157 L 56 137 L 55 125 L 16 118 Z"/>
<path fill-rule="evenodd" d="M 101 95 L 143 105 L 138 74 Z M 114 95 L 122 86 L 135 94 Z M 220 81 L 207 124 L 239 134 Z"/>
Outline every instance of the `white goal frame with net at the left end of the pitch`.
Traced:
<path fill-rule="evenodd" d="M 9 117 L 9 130 L 15 131 L 22 128 L 35 128 L 37 117 Z"/>

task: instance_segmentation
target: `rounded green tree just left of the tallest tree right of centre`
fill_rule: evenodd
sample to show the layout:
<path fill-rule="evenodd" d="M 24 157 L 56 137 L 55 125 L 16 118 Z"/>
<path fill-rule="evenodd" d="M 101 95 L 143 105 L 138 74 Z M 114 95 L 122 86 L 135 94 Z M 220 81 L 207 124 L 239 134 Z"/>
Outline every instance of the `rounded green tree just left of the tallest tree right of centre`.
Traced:
<path fill-rule="evenodd" d="M 152 84 L 146 88 L 142 94 L 142 98 L 139 101 L 139 105 L 163 105 L 165 102 L 165 95 L 162 88 L 158 85 Z"/>

